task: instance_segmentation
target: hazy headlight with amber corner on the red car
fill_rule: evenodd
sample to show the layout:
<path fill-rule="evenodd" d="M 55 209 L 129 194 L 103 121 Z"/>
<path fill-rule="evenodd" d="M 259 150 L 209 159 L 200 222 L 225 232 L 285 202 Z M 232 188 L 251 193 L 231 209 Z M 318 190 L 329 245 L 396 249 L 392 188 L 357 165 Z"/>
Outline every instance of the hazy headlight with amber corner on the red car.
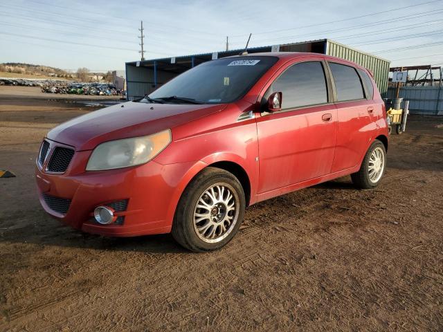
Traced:
<path fill-rule="evenodd" d="M 150 136 L 105 142 L 89 157 L 87 171 L 115 169 L 147 163 L 171 142 L 170 129 Z"/>

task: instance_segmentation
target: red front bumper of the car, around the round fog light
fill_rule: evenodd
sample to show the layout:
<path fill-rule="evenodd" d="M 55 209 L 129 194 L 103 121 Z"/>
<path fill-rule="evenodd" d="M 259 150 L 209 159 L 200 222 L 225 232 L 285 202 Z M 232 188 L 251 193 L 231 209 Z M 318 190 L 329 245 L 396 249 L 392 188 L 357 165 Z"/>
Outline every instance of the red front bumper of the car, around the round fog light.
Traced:
<path fill-rule="evenodd" d="M 181 192 L 204 165 L 177 163 L 145 165 L 98 172 L 85 172 L 91 151 L 77 151 L 65 174 L 47 174 L 37 165 L 35 176 L 44 210 L 66 225 L 95 234 L 128 237 L 168 233 Z M 193 168 L 197 171 L 192 172 Z M 44 195 L 69 199 L 66 214 L 51 210 Z M 93 219 L 98 205 L 127 200 L 123 224 L 101 225 Z"/>

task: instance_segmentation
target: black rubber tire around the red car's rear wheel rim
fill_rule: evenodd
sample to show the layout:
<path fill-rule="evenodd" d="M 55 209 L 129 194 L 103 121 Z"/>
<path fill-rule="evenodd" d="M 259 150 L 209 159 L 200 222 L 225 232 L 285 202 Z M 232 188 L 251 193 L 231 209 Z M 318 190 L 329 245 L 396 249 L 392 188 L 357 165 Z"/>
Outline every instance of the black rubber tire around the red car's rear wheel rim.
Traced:
<path fill-rule="evenodd" d="M 377 181 L 372 181 L 369 174 L 369 163 L 372 152 L 376 149 L 378 149 L 377 151 L 382 151 L 383 153 L 383 169 L 381 170 L 381 175 L 379 176 Z M 372 145 L 369 147 L 368 151 L 366 152 L 365 158 L 363 158 L 363 162 L 361 163 L 359 172 L 351 174 L 352 182 L 354 183 L 354 185 L 356 185 L 361 189 L 374 188 L 377 187 L 377 185 L 379 185 L 385 171 L 386 171 L 385 146 L 379 140 L 374 140 L 374 142 L 372 142 Z"/>

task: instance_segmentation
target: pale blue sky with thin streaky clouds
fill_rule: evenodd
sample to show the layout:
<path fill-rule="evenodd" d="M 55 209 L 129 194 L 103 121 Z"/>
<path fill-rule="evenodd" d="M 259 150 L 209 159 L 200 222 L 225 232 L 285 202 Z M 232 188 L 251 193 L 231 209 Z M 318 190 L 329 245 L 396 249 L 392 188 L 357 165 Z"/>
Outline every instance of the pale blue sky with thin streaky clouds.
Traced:
<path fill-rule="evenodd" d="M 408 7 L 408 8 L 405 8 Z M 403 9 L 400 9 L 403 8 Z M 122 70 L 139 59 L 331 38 L 392 66 L 443 64 L 439 1 L 0 1 L 0 62 Z"/>

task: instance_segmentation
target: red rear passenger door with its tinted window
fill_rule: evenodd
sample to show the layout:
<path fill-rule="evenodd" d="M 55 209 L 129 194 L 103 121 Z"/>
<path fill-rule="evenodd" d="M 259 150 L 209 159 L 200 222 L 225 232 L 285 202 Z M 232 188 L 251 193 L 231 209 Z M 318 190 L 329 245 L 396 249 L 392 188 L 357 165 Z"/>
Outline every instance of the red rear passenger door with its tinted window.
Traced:
<path fill-rule="evenodd" d="M 331 172 L 356 166 L 368 147 L 376 124 L 372 121 L 372 100 L 363 89 L 356 68 L 347 63 L 329 61 L 336 93 L 338 116 L 337 144 Z"/>

